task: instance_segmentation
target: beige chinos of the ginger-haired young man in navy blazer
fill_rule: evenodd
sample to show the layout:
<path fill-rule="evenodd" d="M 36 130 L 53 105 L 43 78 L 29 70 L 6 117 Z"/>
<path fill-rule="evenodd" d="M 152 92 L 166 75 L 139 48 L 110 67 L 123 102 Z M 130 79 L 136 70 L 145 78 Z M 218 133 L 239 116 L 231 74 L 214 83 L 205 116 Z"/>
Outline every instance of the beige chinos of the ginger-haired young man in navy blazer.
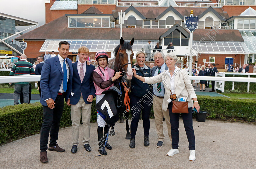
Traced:
<path fill-rule="evenodd" d="M 82 112 L 82 113 L 81 113 Z M 88 144 L 91 129 L 91 104 L 86 104 L 81 96 L 76 105 L 71 105 L 71 121 L 72 121 L 72 145 L 78 145 L 79 141 L 79 125 L 82 114 L 83 121 L 83 143 Z"/>

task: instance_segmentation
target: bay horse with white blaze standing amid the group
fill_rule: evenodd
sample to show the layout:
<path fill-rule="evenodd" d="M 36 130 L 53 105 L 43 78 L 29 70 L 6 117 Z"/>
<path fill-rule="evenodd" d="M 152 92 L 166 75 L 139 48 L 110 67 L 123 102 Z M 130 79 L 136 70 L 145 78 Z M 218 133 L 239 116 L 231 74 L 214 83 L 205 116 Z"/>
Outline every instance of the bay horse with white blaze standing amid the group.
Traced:
<path fill-rule="evenodd" d="M 119 86 L 121 88 L 122 96 L 125 98 L 124 88 L 130 88 L 130 80 L 133 78 L 132 72 L 132 60 L 133 60 L 133 50 L 132 45 L 134 42 L 134 38 L 130 42 L 126 42 L 123 40 L 123 37 L 120 39 L 120 44 L 114 49 L 115 58 L 108 61 L 108 67 L 113 69 L 115 73 L 117 71 L 121 71 L 123 76 L 119 78 Z M 124 103 L 124 102 L 123 102 Z M 121 118 L 124 117 L 126 119 L 126 139 L 130 140 L 130 127 L 128 123 L 129 111 L 123 109 Z M 120 118 L 120 119 L 121 119 Z M 121 121 L 121 120 L 120 120 Z"/>

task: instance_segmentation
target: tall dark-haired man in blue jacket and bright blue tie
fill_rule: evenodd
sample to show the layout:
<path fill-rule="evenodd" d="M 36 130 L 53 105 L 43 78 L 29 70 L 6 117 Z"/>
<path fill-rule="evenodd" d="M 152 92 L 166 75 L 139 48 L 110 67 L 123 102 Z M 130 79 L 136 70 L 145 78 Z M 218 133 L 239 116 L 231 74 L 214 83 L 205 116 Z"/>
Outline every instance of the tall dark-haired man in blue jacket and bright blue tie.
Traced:
<path fill-rule="evenodd" d="M 42 90 L 40 103 L 43 105 L 44 114 L 40 133 L 40 161 L 42 163 L 48 162 L 46 150 L 49 133 L 51 138 L 48 150 L 65 151 L 58 146 L 57 140 L 64 98 L 67 102 L 72 88 L 73 67 L 72 61 L 67 58 L 69 43 L 61 41 L 58 50 L 59 54 L 56 57 L 45 60 L 40 79 Z"/>

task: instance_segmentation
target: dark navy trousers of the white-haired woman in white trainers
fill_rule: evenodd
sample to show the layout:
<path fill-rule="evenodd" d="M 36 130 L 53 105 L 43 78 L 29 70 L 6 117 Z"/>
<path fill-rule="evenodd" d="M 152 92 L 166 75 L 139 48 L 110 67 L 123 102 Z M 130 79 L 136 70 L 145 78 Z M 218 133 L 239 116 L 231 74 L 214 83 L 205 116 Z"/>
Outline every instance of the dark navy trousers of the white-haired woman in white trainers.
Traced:
<path fill-rule="evenodd" d="M 173 113 L 172 102 L 170 102 L 168 105 L 168 109 L 169 109 L 170 122 L 171 122 L 172 148 L 178 149 L 179 147 L 179 119 L 181 114 L 184 128 L 187 134 L 188 148 L 189 150 L 195 150 L 196 141 L 195 141 L 195 133 L 193 129 L 193 122 L 192 122 L 192 107 L 188 108 L 188 114 Z"/>

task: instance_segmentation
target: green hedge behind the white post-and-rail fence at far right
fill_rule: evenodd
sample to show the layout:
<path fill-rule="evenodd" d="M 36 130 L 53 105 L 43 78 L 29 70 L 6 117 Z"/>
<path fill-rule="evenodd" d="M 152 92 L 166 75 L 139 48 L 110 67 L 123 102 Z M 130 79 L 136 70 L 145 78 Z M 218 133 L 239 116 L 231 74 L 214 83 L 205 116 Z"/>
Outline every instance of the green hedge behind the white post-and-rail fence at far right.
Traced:
<path fill-rule="evenodd" d="M 226 74 L 225 77 L 233 77 L 231 74 Z M 235 75 L 235 77 L 248 78 L 248 75 Z M 256 75 L 251 75 L 251 78 L 256 78 Z M 225 81 L 225 90 L 232 90 L 232 81 Z M 235 82 L 234 89 L 247 92 L 247 82 Z M 250 83 L 250 91 L 256 92 L 256 83 Z"/>

